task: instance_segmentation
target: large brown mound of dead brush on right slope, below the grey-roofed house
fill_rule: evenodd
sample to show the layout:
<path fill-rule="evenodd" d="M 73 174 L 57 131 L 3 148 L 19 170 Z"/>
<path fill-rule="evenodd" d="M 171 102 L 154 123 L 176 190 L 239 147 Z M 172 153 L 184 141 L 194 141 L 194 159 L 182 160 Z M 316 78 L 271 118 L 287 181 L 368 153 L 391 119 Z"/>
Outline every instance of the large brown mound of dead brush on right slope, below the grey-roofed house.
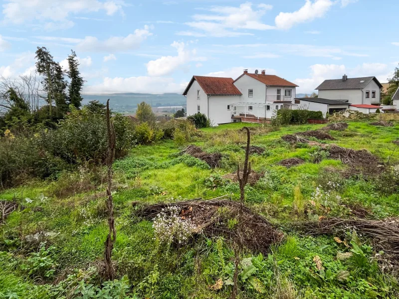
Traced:
<path fill-rule="evenodd" d="M 366 174 L 380 173 L 382 170 L 382 167 L 378 163 L 378 158 L 366 149 L 346 149 L 336 145 L 332 145 L 326 149 L 330 153 L 330 158 L 339 159 L 343 163 Z"/>

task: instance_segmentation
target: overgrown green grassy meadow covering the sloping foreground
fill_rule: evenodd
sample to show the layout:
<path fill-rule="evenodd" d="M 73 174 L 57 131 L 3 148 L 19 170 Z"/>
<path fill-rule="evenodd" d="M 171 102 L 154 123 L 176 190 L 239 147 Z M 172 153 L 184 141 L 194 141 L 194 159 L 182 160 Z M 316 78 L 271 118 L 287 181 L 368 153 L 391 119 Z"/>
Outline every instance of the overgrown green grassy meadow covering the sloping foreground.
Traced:
<path fill-rule="evenodd" d="M 0 200 L 18 207 L 0 225 L 0 298 L 229 298 L 234 238 L 192 235 L 179 217 L 173 220 L 178 230 L 171 233 L 161 229 L 161 217 L 144 219 L 139 211 L 158 202 L 238 200 L 238 183 L 225 175 L 243 162 L 243 126 L 250 126 L 251 145 L 264 149 L 250 155 L 258 177 L 246 186 L 245 205 L 284 237 L 262 253 L 244 249 L 238 298 L 398 298 L 395 256 L 369 236 L 349 226 L 326 234 L 298 229 L 301 223 L 334 217 L 398 221 L 399 147 L 394 141 L 399 126 L 368 121 L 325 131 L 334 140 L 308 137 L 310 142 L 289 143 L 281 138 L 325 125 L 234 123 L 200 129 L 193 140 L 176 135 L 135 146 L 113 164 L 117 239 L 112 257 L 118 277 L 113 282 L 99 274 L 108 234 L 105 169 L 98 167 L 93 175 L 92 168 L 81 166 L 57 179 L 5 188 Z M 220 153 L 218 166 L 182 154 L 190 144 Z M 328 155 L 328 144 L 367 149 L 381 171 L 354 171 Z M 302 162 L 281 165 L 289 158 Z M 227 218 L 225 227 L 234 230 L 237 219 Z"/>

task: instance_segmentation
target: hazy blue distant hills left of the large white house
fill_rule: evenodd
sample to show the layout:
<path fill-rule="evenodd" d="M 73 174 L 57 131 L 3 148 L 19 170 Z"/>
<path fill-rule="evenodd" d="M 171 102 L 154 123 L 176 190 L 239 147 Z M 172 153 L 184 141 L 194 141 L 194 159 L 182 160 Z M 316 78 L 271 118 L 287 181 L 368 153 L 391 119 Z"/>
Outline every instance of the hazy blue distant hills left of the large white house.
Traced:
<path fill-rule="evenodd" d="M 116 112 L 134 111 L 137 104 L 146 102 L 153 107 L 158 106 L 186 106 L 186 98 L 180 94 L 166 93 L 162 95 L 141 94 L 141 93 L 115 93 L 107 95 L 82 95 L 83 104 L 90 101 L 107 103 L 110 99 L 110 107 Z"/>

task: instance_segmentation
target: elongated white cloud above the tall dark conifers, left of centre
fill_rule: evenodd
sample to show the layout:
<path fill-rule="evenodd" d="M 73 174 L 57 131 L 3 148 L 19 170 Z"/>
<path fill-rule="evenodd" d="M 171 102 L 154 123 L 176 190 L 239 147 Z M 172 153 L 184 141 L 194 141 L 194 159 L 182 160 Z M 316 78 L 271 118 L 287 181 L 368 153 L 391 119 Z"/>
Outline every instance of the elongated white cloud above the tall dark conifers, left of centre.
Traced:
<path fill-rule="evenodd" d="M 136 29 L 133 34 L 129 34 L 126 37 L 114 36 L 107 40 L 99 41 L 97 37 L 86 36 L 84 40 L 76 45 L 76 48 L 80 51 L 90 52 L 129 51 L 139 48 L 141 42 L 151 35 L 150 27 L 146 25 L 143 29 Z"/>

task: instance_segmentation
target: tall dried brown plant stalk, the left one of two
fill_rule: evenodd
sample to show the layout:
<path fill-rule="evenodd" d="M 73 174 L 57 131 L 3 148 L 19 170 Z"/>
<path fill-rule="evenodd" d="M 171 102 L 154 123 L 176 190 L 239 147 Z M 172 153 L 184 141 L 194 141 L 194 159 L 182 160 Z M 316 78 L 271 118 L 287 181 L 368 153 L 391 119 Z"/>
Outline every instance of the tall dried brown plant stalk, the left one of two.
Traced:
<path fill-rule="evenodd" d="M 115 270 L 112 265 L 112 249 L 114 248 L 116 240 L 116 228 L 114 221 L 114 203 L 112 200 L 112 163 L 115 157 L 115 130 L 111 122 L 110 112 L 109 112 L 109 99 L 107 101 L 107 134 L 108 134 L 108 156 L 106 160 L 108 168 L 108 187 L 107 187 L 107 211 L 108 211 L 108 236 L 105 241 L 105 251 L 104 251 L 104 262 L 105 262 L 105 273 L 104 276 L 108 280 L 113 280 L 115 277 Z"/>

